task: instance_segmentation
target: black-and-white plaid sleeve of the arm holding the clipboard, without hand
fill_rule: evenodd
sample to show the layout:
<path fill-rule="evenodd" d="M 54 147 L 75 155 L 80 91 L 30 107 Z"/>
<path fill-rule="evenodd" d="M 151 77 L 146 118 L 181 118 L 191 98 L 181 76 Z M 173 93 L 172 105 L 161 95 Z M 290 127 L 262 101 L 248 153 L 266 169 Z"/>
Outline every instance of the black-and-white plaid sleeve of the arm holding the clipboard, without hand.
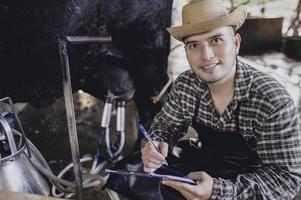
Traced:
<path fill-rule="evenodd" d="M 301 184 L 301 137 L 292 100 L 272 112 L 260 130 L 257 153 L 263 163 L 235 182 L 213 179 L 211 199 L 292 199 Z"/>

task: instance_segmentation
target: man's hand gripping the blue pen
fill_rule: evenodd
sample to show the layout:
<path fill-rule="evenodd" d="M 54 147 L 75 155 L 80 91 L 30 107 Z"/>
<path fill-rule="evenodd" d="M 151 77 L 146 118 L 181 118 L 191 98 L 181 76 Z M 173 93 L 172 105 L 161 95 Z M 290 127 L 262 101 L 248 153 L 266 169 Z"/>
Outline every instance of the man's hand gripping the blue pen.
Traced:
<path fill-rule="evenodd" d="M 147 142 L 141 149 L 141 158 L 143 161 L 143 170 L 145 172 L 154 172 L 160 168 L 168 153 L 168 144 L 165 142 L 154 142 L 159 149 L 158 152 L 151 143 Z"/>

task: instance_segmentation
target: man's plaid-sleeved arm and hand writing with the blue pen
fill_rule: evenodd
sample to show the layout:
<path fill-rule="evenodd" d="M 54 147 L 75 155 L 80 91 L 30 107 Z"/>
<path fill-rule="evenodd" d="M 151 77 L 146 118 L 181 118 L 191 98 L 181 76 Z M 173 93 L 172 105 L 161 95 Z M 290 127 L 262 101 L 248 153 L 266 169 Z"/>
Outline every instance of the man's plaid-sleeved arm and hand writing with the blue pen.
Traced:
<path fill-rule="evenodd" d="M 150 129 L 150 137 L 155 141 L 158 150 L 146 140 L 142 141 L 141 158 L 145 172 L 153 172 L 160 168 L 168 151 L 172 149 L 178 138 L 187 132 L 188 125 L 182 107 L 184 93 L 181 92 L 185 91 L 183 90 L 185 84 L 181 81 L 185 77 L 181 75 L 180 77 L 173 85 L 166 104 L 155 117 Z"/>

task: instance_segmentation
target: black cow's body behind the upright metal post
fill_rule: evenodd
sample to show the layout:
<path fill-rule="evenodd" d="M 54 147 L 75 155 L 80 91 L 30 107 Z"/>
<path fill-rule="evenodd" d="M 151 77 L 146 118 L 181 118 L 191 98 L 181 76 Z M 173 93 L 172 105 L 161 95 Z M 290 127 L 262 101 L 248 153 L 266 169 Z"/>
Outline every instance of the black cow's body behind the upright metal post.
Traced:
<path fill-rule="evenodd" d="M 136 90 L 149 125 L 150 97 L 167 81 L 172 0 L 1 0 L 0 97 L 49 105 L 62 96 L 58 38 L 111 36 L 112 43 L 69 46 L 72 88 L 100 99 Z M 130 98 L 130 96 L 129 96 Z"/>

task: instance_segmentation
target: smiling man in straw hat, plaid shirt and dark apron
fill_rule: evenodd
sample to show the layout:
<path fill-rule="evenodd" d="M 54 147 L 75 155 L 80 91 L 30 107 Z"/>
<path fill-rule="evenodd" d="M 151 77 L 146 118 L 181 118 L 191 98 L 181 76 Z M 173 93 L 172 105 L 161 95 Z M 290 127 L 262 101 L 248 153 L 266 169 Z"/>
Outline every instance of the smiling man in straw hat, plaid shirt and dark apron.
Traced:
<path fill-rule="evenodd" d="M 143 145 L 144 171 L 159 169 L 192 126 L 201 147 L 186 153 L 184 165 L 197 185 L 162 184 L 189 200 L 292 199 L 301 175 L 298 114 L 275 79 L 237 59 L 235 31 L 246 19 L 245 7 L 228 13 L 222 0 L 199 0 L 184 6 L 182 16 L 183 25 L 168 31 L 184 42 L 191 71 L 177 78 L 153 121 L 160 152 Z"/>

